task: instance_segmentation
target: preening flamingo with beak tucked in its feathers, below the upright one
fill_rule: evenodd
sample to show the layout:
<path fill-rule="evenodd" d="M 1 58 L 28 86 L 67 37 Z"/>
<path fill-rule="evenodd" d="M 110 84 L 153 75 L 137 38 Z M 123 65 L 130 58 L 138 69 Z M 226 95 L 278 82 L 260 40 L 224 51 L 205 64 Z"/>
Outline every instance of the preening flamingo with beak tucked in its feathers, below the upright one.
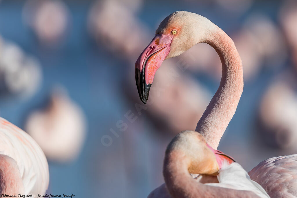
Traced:
<path fill-rule="evenodd" d="M 193 179 L 189 173 L 201 175 Z M 160 186 L 148 197 L 170 197 L 167 189 L 172 197 L 179 198 L 269 197 L 238 163 L 211 148 L 204 137 L 194 131 L 181 132 L 169 143 L 163 175 L 167 188 Z"/>

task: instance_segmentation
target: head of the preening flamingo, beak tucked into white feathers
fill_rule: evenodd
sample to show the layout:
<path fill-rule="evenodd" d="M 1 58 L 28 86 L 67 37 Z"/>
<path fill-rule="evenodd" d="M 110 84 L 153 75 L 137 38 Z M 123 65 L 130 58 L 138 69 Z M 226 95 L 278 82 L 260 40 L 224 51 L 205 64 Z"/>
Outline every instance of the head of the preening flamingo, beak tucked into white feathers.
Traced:
<path fill-rule="evenodd" d="M 176 162 L 177 160 L 179 162 Z M 183 161 L 187 164 L 189 173 L 207 175 L 216 175 L 223 162 L 227 164 L 235 162 L 232 157 L 211 148 L 204 137 L 195 131 L 183 131 L 177 134 L 167 147 L 165 161 L 169 164 Z"/>

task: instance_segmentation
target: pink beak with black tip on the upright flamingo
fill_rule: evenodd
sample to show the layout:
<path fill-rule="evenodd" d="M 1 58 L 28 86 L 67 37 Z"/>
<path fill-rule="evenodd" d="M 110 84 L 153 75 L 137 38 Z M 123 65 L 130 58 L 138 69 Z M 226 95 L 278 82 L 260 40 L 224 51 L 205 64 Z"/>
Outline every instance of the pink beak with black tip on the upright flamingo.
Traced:
<path fill-rule="evenodd" d="M 172 38 L 171 34 L 157 34 L 135 63 L 136 85 L 139 97 L 144 104 L 149 98 L 149 89 L 155 73 L 170 51 Z"/>

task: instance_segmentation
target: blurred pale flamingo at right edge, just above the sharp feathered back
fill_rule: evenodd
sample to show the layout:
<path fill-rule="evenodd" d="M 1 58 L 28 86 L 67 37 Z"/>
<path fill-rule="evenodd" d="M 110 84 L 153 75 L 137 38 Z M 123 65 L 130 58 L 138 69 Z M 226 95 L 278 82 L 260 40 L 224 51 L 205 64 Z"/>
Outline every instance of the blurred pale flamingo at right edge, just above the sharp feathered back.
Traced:
<path fill-rule="evenodd" d="M 283 73 L 273 80 L 259 107 L 262 140 L 271 146 L 297 151 L 297 78 Z"/>

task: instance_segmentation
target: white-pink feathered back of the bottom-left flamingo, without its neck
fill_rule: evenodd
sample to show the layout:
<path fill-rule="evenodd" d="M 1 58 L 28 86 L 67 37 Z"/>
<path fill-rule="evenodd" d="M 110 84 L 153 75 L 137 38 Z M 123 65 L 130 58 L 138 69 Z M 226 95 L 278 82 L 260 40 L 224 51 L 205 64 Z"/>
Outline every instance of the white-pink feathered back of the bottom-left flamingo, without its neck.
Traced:
<path fill-rule="evenodd" d="M 16 161 L 26 195 L 45 194 L 49 170 L 43 151 L 26 132 L 1 117 L 0 154 Z"/>

